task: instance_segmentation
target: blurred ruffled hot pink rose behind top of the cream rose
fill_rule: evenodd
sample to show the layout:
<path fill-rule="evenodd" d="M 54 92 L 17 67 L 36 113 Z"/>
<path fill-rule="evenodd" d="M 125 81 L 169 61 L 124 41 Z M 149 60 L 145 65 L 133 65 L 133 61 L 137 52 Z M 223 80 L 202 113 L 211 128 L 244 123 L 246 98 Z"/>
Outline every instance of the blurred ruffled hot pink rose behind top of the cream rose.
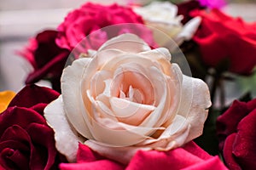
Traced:
<path fill-rule="evenodd" d="M 125 8 L 118 4 L 104 6 L 94 3 L 85 3 L 81 8 L 73 10 L 67 15 L 64 22 L 58 27 L 59 35 L 56 43 L 61 48 L 72 50 L 79 42 L 93 31 L 99 30 L 106 26 L 134 23 L 143 24 L 141 16 L 135 14 L 131 8 Z M 86 52 L 87 49 L 98 49 L 103 42 L 109 38 L 115 37 L 122 33 L 137 33 L 144 41 L 152 44 L 153 37 L 151 31 L 144 26 L 116 26 L 114 30 L 96 31 L 90 37 L 84 40 L 83 44 L 79 44 L 77 49 L 79 53 Z"/>

